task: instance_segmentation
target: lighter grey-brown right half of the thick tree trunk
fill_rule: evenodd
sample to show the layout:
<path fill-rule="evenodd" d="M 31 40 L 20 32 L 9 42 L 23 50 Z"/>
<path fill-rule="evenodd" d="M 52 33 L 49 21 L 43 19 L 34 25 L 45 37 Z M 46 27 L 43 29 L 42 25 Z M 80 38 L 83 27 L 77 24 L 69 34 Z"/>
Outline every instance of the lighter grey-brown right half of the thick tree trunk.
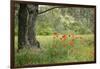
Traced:
<path fill-rule="evenodd" d="M 39 42 L 36 40 L 35 24 L 38 15 L 38 5 L 27 5 L 28 21 L 27 21 L 27 45 L 30 47 L 39 47 Z"/>

